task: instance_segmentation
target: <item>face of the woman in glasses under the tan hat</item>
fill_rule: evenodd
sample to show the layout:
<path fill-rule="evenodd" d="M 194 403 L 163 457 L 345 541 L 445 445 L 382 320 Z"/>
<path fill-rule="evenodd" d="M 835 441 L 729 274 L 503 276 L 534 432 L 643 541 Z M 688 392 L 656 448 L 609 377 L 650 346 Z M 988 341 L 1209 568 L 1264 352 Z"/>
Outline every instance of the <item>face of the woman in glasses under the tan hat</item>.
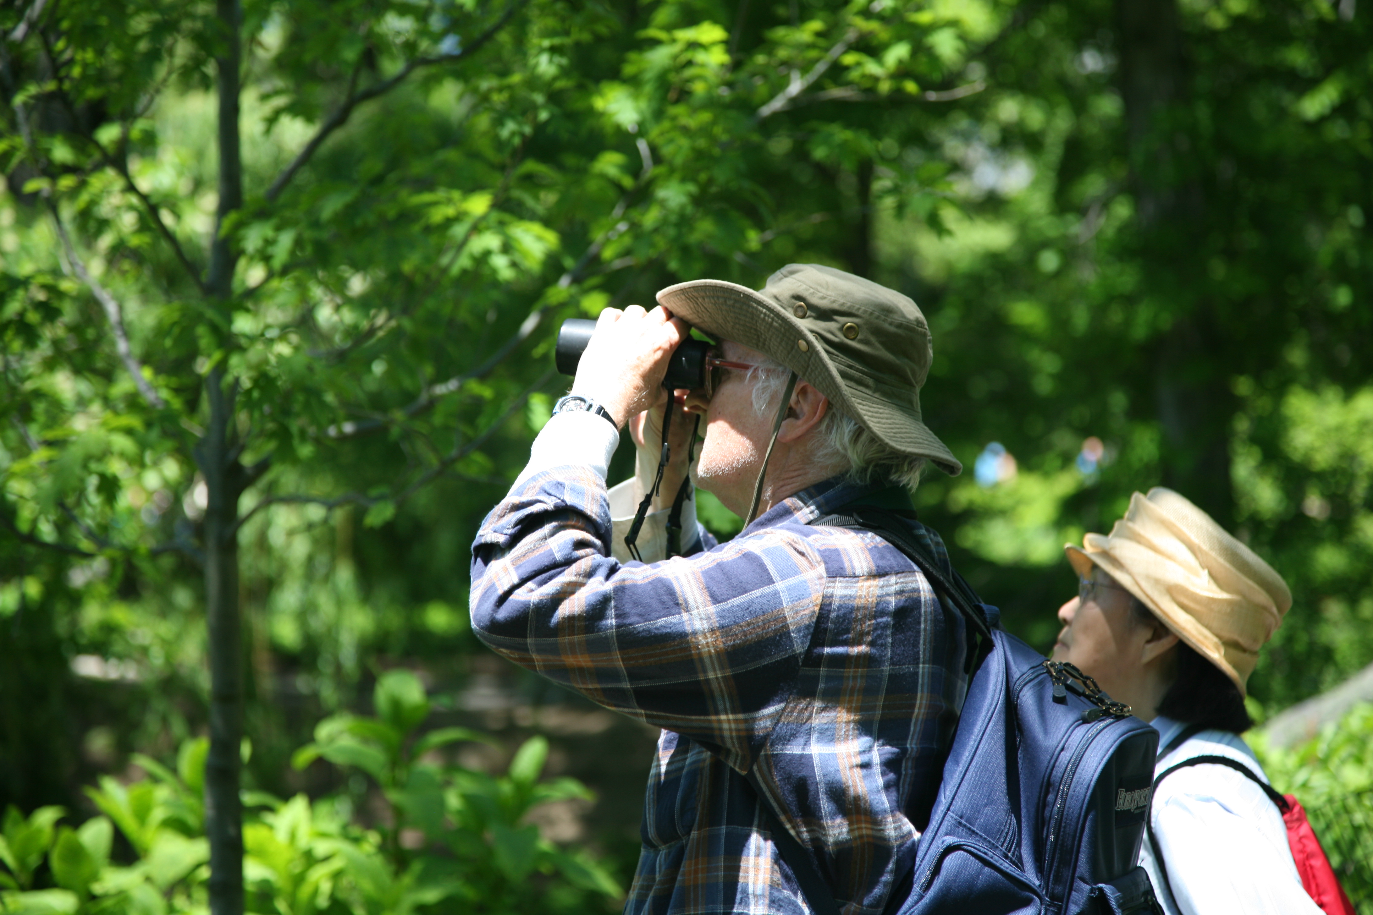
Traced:
<path fill-rule="evenodd" d="M 1130 601 L 1130 591 L 1093 567 L 1092 578 L 1081 580 L 1078 597 L 1059 608 L 1063 631 L 1053 660 L 1076 665 L 1111 698 L 1138 705 L 1152 627 L 1135 621 Z"/>

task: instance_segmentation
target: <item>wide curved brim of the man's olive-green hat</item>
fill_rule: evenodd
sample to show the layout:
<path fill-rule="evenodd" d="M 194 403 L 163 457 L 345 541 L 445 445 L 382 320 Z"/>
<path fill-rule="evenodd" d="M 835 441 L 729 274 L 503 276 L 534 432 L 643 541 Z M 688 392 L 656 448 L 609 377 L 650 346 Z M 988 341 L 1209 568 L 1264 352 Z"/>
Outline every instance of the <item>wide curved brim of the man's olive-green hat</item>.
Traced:
<path fill-rule="evenodd" d="M 897 451 L 927 458 L 951 476 L 962 472 L 962 464 L 920 420 L 913 405 L 892 403 L 846 385 L 820 340 L 754 289 L 725 280 L 691 280 L 660 291 L 658 303 L 714 337 L 741 343 L 781 362 Z M 800 340 L 806 342 L 805 351 L 796 343 Z"/>

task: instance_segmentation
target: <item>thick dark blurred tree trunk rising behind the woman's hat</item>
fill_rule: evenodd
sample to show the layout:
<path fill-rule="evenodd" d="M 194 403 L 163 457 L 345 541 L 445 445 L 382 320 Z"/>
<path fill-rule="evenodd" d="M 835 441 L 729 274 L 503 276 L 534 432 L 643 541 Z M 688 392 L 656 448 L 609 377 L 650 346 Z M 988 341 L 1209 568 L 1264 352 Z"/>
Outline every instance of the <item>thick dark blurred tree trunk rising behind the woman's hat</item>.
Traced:
<path fill-rule="evenodd" d="M 1229 527 L 1236 402 L 1219 347 L 1216 303 L 1195 291 L 1205 270 L 1205 199 L 1190 173 L 1190 81 L 1175 0 L 1118 0 L 1120 95 L 1141 261 L 1141 295 L 1173 316 L 1155 348 L 1155 403 L 1170 486 Z"/>

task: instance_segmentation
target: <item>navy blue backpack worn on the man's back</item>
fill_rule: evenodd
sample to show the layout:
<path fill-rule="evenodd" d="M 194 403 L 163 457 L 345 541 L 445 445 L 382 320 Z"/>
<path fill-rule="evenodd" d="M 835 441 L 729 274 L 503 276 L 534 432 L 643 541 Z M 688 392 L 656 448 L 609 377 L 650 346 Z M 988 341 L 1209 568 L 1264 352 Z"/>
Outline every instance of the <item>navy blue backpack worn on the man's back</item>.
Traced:
<path fill-rule="evenodd" d="M 891 513 L 858 509 L 814 523 L 881 535 L 980 637 L 969 646 L 973 676 L 930 823 L 887 912 L 1162 912 L 1148 874 L 1135 864 L 1157 731 L 1071 664 L 1046 661 L 998 628 L 1000 612 L 957 573 L 950 580 Z M 810 908 L 838 915 L 814 859 L 774 813 L 770 819 Z"/>

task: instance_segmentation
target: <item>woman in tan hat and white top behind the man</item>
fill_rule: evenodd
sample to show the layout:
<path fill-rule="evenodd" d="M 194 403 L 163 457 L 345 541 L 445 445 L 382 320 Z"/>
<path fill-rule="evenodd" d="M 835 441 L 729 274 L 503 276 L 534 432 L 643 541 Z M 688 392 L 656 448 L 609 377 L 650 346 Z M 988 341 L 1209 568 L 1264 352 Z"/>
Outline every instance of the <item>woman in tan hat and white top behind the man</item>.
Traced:
<path fill-rule="evenodd" d="M 1096 678 L 1159 730 L 1156 772 L 1222 756 L 1267 782 L 1240 738 L 1259 649 L 1292 605 L 1282 578 L 1171 490 L 1135 492 L 1108 536 L 1065 547 L 1078 597 L 1059 609 L 1053 660 Z M 1282 815 L 1225 764 L 1159 783 L 1140 863 L 1170 914 L 1319 915 L 1302 889 Z"/>

